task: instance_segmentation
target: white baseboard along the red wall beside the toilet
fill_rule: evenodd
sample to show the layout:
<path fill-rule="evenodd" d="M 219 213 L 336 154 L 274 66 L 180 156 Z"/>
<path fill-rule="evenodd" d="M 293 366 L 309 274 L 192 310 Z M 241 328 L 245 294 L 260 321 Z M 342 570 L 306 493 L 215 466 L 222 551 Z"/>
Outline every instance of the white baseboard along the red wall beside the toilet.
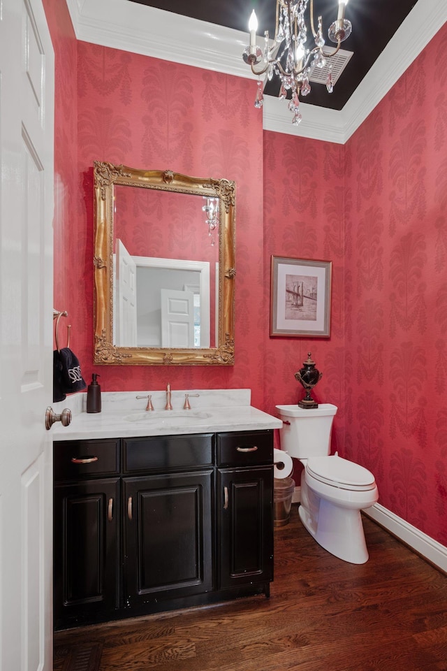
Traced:
<path fill-rule="evenodd" d="M 301 487 L 295 487 L 292 503 L 300 503 Z M 393 536 L 402 540 L 413 551 L 417 552 L 424 559 L 447 573 L 447 547 L 427 536 L 423 531 L 419 531 L 416 526 L 409 524 L 402 517 L 398 517 L 380 503 L 374 504 L 371 508 L 362 512 L 374 519 L 377 524 L 383 526 Z"/>

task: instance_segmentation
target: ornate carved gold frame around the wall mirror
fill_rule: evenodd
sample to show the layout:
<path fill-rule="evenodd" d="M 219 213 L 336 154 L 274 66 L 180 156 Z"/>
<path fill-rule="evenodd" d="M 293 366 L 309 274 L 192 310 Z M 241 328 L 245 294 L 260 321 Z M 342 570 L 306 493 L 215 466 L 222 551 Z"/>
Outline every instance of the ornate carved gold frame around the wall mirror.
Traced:
<path fill-rule="evenodd" d="M 217 347 L 177 349 L 114 345 L 115 185 L 219 199 Z M 94 363 L 126 366 L 234 364 L 235 194 L 235 182 L 229 180 L 199 179 L 169 170 L 143 171 L 94 161 Z"/>

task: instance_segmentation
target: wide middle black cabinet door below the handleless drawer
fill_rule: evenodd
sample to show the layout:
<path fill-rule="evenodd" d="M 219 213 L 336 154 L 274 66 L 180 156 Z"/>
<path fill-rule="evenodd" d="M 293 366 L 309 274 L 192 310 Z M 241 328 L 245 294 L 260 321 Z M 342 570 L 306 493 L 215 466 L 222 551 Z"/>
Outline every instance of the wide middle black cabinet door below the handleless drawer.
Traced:
<path fill-rule="evenodd" d="M 212 476 L 123 479 L 126 607 L 212 589 Z"/>

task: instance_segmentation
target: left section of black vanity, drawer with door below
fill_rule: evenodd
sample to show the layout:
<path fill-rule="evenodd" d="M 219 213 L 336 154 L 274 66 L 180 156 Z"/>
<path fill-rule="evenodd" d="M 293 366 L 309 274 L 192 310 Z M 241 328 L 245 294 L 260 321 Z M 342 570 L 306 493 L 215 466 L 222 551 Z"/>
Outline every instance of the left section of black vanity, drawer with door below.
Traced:
<path fill-rule="evenodd" d="M 59 442 L 54 449 L 56 629 L 119 607 L 118 474 L 118 440 Z"/>

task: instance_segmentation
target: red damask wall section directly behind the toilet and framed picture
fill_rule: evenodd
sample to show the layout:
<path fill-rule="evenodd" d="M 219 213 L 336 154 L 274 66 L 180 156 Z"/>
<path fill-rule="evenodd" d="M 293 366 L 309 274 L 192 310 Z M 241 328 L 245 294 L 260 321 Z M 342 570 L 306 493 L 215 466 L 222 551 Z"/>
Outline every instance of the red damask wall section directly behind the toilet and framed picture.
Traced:
<path fill-rule="evenodd" d="M 269 338 L 265 324 L 264 409 L 276 414 L 275 405 L 304 398 L 295 373 L 312 352 L 323 373 L 313 396 L 318 403 L 337 405 L 332 447 L 343 456 L 350 361 L 344 352 L 344 147 L 265 131 L 264 182 L 265 293 L 270 296 L 272 255 L 332 261 L 330 338 Z M 294 460 L 297 484 L 301 470 Z"/>

